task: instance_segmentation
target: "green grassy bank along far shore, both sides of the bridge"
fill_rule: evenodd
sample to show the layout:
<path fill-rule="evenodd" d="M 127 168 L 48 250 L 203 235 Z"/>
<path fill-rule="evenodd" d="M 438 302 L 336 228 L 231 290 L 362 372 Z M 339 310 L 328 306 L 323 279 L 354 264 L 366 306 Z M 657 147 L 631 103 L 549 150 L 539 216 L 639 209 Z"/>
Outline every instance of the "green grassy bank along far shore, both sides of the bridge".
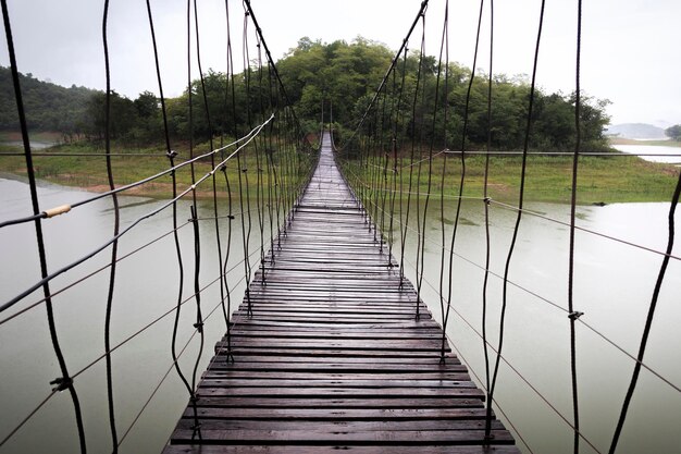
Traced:
<path fill-rule="evenodd" d="M 197 147 L 196 154 L 208 150 L 207 145 Z M 17 152 L 17 147 L 0 146 L 0 152 Z M 101 148 L 92 145 L 62 145 L 41 151 L 48 156 L 34 158 L 36 175 L 39 179 L 67 185 L 83 187 L 88 191 L 108 191 L 107 167 L 103 156 L 83 157 L 78 154 L 103 154 Z M 116 185 L 136 182 L 149 175 L 168 169 L 168 158 L 163 150 L 149 149 L 121 149 L 114 147 L 113 152 L 122 156 L 112 157 L 112 168 Z M 49 156 L 52 154 L 52 156 Z M 54 156 L 54 154 L 65 156 Z M 144 156 L 140 156 L 144 155 Z M 181 152 L 176 163 L 187 158 L 187 152 Z M 267 172 L 258 172 L 258 168 L 264 168 L 256 162 L 253 152 L 245 155 L 242 162 L 242 180 L 246 176 L 249 181 L 249 191 L 256 191 L 257 179 L 260 173 L 267 184 Z M 264 159 L 261 157 L 261 159 Z M 521 157 L 492 157 L 490 160 L 490 196 L 497 200 L 513 201 L 519 196 Z M 428 191 L 428 161 L 421 162 L 423 175 L 420 181 L 419 192 Z M 484 191 L 484 165 L 485 158 L 472 156 L 466 160 L 465 196 L 482 197 Z M 392 164 L 391 164 L 392 167 Z M 404 158 L 400 163 L 400 172 L 397 174 L 397 183 L 401 177 L 404 187 L 409 181 L 409 161 Z M 210 172 L 209 161 L 195 164 L 197 177 Z M 448 157 L 445 162 L 443 156 L 433 160 L 433 179 L 431 192 L 439 194 L 442 185 L 443 168 L 445 174 L 445 194 L 458 195 L 458 183 L 461 175 L 461 160 L 459 157 Z M 372 168 L 382 176 L 382 170 Z M 17 175 L 26 174 L 26 164 L 22 156 L 0 156 L 0 171 Z M 364 169 L 366 177 L 370 177 L 371 168 Z M 543 200 L 567 203 L 570 200 L 572 159 L 570 157 L 531 156 L 528 160 L 525 179 L 525 197 L 528 200 Z M 664 201 L 669 200 L 673 192 L 679 168 L 668 164 L 647 162 L 636 157 L 614 154 L 612 157 L 582 157 L 579 165 L 578 200 L 580 204 L 597 203 L 626 203 L 626 201 Z M 413 188 L 416 193 L 418 165 L 413 167 Z M 239 172 L 236 159 L 227 164 L 232 191 L 238 188 Z M 190 167 L 186 165 L 176 172 L 178 191 L 191 185 Z M 219 191 L 226 189 L 224 177 L 220 177 Z M 392 172 L 388 173 L 388 183 L 392 185 Z M 169 197 L 172 194 L 171 176 L 164 175 L 152 183 L 133 189 L 126 194 L 146 195 L 152 197 Z M 199 186 L 199 196 L 212 195 L 210 181 Z"/>

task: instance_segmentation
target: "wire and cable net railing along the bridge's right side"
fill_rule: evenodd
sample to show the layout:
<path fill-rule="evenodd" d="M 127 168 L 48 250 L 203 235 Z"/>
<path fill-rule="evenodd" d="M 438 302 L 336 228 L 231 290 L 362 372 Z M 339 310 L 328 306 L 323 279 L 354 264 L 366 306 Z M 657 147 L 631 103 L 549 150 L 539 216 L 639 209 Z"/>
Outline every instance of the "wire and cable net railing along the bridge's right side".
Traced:
<path fill-rule="evenodd" d="M 431 305 L 453 344 L 467 353 L 472 372 L 487 392 L 487 433 L 494 405 L 503 409 L 510 402 L 516 414 L 506 407 L 504 415 L 515 422 L 529 452 L 570 445 L 573 452 L 612 453 L 620 434 L 627 433 L 628 418 L 635 420 L 630 434 L 642 430 L 636 427 L 641 425 L 637 418 L 645 412 L 641 403 L 630 412 L 631 402 L 637 395 L 640 400 L 658 397 L 656 386 L 665 389 L 664 395 L 676 408 L 657 419 L 669 431 L 681 408 L 679 371 L 669 358 L 673 342 L 658 340 L 652 347 L 655 353 L 651 357 L 645 353 L 648 340 L 655 338 L 660 298 L 666 314 L 678 320 L 670 289 L 679 282 L 679 254 L 673 248 L 679 171 L 669 179 L 670 203 L 656 206 L 655 220 L 647 219 L 635 238 L 621 229 L 605 230 L 611 225 L 598 222 L 598 214 L 624 207 L 586 205 L 589 187 L 581 172 L 589 173 L 609 159 L 636 158 L 583 148 L 581 2 L 575 2 L 574 149 L 570 152 L 546 152 L 532 145 L 544 2 L 520 151 L 493 145 L 494 131 L 498 132 L 495 109 L 503 109 L 495 105 L 494 93 L 494 3 L 480 2 L 473 71 L 463 78 L 449 61 L 450 8 L 444 2 L 444 11 L 436 15 L 444 19 L 435 25 L 442 34 L 439 54 L 433 62 L 424 51 L 430 36 L 426 17 L 433 5 L 422 3 L 369 108 L 337 152 L 348 182 L 370 214 L 372 229 L 396 255 L 400 272 L 416 283 L 419 298 Z M 490 72 L 479 76 L 475 69 L 484 58 L 480 46 L 483 28 L 488 33 L 484 41 L 488 44 Z M 410 45 L 417 49 L 411 53 L 407 51 Z M 451 88 L 456 84 L 459 91 Z M 486 145 L 471 144 L 469 138 L 473 98 L 475 121 L 480 121 L 480 106 L 485 106 Z M 454 120 L 454 111 L 460 121 Z M 553 160 L 555 172 L 565 176 L 559 183 L 541 177 L 538 183 L 565 184 L 564 203 L 542 201 L 534 186 L 533 170 L 546 160 Z M 505 180 L 508 174 L 515 183 Z M 636 208 L 643 206 L 631 206 L 630 218 L 622 222 L 640 222 Z M 620 260 L 629 267 L 618 267 Z M 627 309 L 618 307 L 620 304 Z M 628 315 L 622 317 L 622 311 Z M 414 317 L 419 317 L 418 308 Z M 639 343 L 620 330 L 635 332 Z M 673 338 L 668 327 L 661 327 L 658 334 Z M 660 361 L 660 357 L 667 360 Z M 598 360 L 608 365 L 607 372 L 602 371 L 605 383 L 594 377 Z M 580 367 L 584 364 L 591 368 Z M 645 381 L 656 384 L 646 383 L 636 392 L 641 371 L 645 371 Z M 594 391 L 596 383 L 602 386 L 598 391 Z M 497 386 L 503 397 L 497 395 Z M 614 388 L 621 394 L 614 395 Z M 518 404 L 521 397 L 513 393 L 521 391 L 531 405 Z M 594 402 L 594 392 L 608 397 Z M 580 410 L 584 407 L 586 412 Z M 528 408 L 534 417 L 525 419 Z M 536 426 L 543 426 L 537 415 L 557 420 L 545 429 L 550 435 L 537 435 Z M 523 419 L 527 425 L 518 422 Z M 527 432 L 533 433 L 528 437 Z M 623 452 L 637 452 L 631 437 L 635 435 L 629 435 L 623 447 L 629 451 Z"/>

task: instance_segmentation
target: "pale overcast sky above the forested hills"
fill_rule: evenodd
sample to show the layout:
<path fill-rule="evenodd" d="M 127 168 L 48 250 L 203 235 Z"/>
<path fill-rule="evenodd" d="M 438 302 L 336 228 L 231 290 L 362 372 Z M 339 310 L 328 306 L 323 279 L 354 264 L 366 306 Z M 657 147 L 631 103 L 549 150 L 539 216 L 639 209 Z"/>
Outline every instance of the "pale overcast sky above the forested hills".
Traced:
<path fill-rule="evenodd" d="M 244 8 L 227 0 L 236 70 L 243 68 L 240 38 Z M 225 0 L 198 0 L 203 71 L 226 71 Z M 322 42 L 352 41 L 357 36 L 397 50 L 420 8 L 420 0 L 251 0 L 274 60 L 302 37 Z M 449 60 L 473 63 L 479 0 L 449 2 Z M 577 0 L 546 0 L 537 84 L 546 91 L 569 94 L 575 87 Z M 187 84 L 186 0 L 151 0 L 166 96 Z M 8 0 L 22 73 L 71 86 L 106 87 L 102 45 L 103 0 Z M 490 70 L 491 0 L 484 3 L 483 38 L 476 68 Z M 541 0 L 494 2 L 495 74 L 532 73 Z M 426 51 L 437 54 L 445 0 L 430 0 Z M 582 90 L 608 99 L 612 124 L 681 123 L 681 1 L 583 0 Z M 2 37 L 4 27 L 0 24 Z M 248 36 L 255 42 L 252 25 Z M 417 48 L 417 27 L 410 48 Z M 158 94 L 145 0 L 110 0 L 108 38 L 112 88 L 132 99 L 144 90 Z M 191 37 L 191 73 L 196 66 Z M 252 53 L 250 56 L 253 57 Z M 0 65 L 9 65 L 5 40 Z"/>

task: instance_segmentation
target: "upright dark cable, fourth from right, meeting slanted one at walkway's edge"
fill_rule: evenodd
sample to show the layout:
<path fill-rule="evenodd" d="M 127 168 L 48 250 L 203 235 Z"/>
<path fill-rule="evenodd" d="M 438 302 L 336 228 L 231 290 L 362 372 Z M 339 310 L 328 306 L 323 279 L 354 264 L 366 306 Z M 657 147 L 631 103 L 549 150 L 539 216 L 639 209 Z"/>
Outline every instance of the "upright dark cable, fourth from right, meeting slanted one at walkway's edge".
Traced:
<path fill-rule="evenodd" d="M 485 359 L 485 390 L 487 403 L 492 401 L 490 395 L 490 351 L 487 349 L 487 287 L 490 283 L 490 262 L 492 244 L 490 235 L 490 154 L 492 151 L 492 86 L 494 82 L 494 0 L 490 0 L 490 75 L 487 77 L 487 144 L 485 154 L 485 175 L 483 204 L 485 210 L 485 270 L 482 283 L 482 348 Z M 492 407 L 487 405 L 485 417 L 485 441 L 492 440 Z"/>

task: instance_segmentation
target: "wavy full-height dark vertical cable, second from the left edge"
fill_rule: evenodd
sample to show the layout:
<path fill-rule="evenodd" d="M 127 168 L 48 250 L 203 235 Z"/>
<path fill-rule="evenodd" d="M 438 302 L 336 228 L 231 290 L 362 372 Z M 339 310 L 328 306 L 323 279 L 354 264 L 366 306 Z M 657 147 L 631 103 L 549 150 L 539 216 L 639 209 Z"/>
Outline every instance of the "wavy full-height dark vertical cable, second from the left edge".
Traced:
<path fill-rule="evenodd" d="M 102 19 L 102 41 L 104 47 L 104 70 L 107 77 L 107 94 L 104 107 L 104 150 L 107 154 L 107 179 L 109 180 L 109 189 L 115 189 L 113 183 L 113 171 L 111 169 L 111 69 L 109 65 L 109 40 L 107 36 L 107 26 L 109 19 L 109 0 L 104 0 L 104 14 Z M 111 194 L 113 203 L 113 236 L 119 235 L 121 223 L 121 213 L 119 209 L 117 194 Z M 107 401 L 109 407 L 109 428 L 111 431 L 112 452 L 119 452 L 119 437 L 116 434 L 115 412 L 113 408 L 113 371 L 111 364 L 111 309 L 113 305 L 113 290 L 115 285 L 116 257 L 119 251 L 119 241 L 114 240 L 111 244 L 111 267 L 109 270 L 109 292 L 107 295 L 107 314 L 104 317 L 104 352 L 107 363 Z"/>

